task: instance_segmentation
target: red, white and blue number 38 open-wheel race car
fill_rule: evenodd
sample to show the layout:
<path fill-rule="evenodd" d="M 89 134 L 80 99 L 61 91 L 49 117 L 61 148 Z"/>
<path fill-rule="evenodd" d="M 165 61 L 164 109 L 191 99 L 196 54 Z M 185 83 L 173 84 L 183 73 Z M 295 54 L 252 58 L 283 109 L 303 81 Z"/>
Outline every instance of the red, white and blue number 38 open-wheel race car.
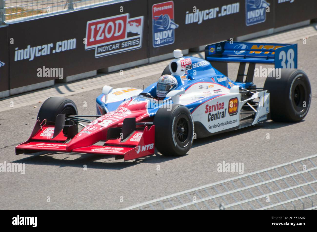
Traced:
<path fill-rule="evenodd" d="M 105 85 L 97 97 L 97 117 L 78 115 L 73 101 L 50 97 L 41 106 L 35 127 L 16 154 L 37 151 L 114 155 L 133 160 L 154 154 L 186 154 L 194 138 L 228 132 L 272 119 L 299 122 L 309 110 L 311 87 L 297 68 L 296 44 L 224 41 L 205 48 L 205 59 L 175 59 L 165 76 L 176 78 L 176 89 L 165 98 L 156 94 L 158 83 L 144 90 Z M 236 80 L 215 67 L 240 62 Z M 246 63 L 249 63 L 245 74 Z M 253 83 L 255 64 L 275 64 L 263 88 Z M 78 127 L 81 129 L 78 132 Z"/>

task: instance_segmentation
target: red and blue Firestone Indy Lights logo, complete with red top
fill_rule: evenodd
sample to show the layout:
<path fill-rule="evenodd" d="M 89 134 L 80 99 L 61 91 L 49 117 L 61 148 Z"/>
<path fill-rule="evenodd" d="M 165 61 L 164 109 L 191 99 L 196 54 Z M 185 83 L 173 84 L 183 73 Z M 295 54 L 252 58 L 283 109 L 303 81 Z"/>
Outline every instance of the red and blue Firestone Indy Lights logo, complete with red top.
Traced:
<path fill-rule="evenodd" d="M 153 47 L 165 46 L 175 41 L 174 2 L 157 3 L 152 6 Z"/>

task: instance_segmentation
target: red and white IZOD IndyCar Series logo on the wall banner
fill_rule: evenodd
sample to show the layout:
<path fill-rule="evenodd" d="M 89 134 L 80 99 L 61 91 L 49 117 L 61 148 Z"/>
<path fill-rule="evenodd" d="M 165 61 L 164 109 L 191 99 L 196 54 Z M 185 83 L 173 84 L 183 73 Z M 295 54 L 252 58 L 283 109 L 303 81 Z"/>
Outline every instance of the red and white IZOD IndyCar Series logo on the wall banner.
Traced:
<path fill-rule="evenodd" d="M 142 47 L 144 16 L 129 14 L 87 22 L 85 49 L 95 49 L 95 57 L 125 52 Z"/>

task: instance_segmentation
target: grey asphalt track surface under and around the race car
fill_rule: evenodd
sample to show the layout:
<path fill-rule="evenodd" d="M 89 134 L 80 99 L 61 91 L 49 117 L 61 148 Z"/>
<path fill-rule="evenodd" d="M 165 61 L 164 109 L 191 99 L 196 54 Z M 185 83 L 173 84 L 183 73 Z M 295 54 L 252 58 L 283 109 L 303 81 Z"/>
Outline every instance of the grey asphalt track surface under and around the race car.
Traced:
<path fill-rule="evenodd" d="M 156 153 L 123 162 L 91 154 L 15 156 L 15 146 L 29 138 L 42 103 L 1 112 L 0 163 L 26 164 L 24 175 L 0 172 L 1 209 L 122 209 L 239 175 L 217 172 L 217 163 L 223 161 L 244 163 L 244 173 L 249 173 L 316 154 L 317 36 L 308 38 L 307 44 L 296 42 L 298 68 L 307 73 L 312 87 L 312 103 L 305 119 L 299 123 L 268 121 L 196 139 L 188 154 L 182 157 L 164 157 Z M 230 68 L 229 77 L 235 79 L 237 66 L 230 65 Z M 158 78 L 159 75 L 153 75 L 113 85 L 113 88 L 142 88 Z M 258 87 L 263 86 L 264 80 L 254 78 Z M 76 103 L 79 114 L 95 114 L 95 97 L 100 93 L 101 89 L 95 89 L 68 98 Z M 87 102 L 86 108 L 84 102 Z M 86 171 L 84 165 L 87 165 Z M 50 202 L 47 202 L 48 197 Z"/>

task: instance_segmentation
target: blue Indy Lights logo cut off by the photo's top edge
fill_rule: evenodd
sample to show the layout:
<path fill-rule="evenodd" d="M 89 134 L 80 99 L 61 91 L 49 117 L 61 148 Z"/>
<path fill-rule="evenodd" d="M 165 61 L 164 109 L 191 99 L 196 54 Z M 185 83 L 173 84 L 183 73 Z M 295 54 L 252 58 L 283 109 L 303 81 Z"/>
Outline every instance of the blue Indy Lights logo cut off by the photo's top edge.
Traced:
<path fill-rule="evenodd" d="M 270 3 L 266 0 L 245 0 L 245 23 L 247 26 L 265 22 L 266 7 Z"/>

